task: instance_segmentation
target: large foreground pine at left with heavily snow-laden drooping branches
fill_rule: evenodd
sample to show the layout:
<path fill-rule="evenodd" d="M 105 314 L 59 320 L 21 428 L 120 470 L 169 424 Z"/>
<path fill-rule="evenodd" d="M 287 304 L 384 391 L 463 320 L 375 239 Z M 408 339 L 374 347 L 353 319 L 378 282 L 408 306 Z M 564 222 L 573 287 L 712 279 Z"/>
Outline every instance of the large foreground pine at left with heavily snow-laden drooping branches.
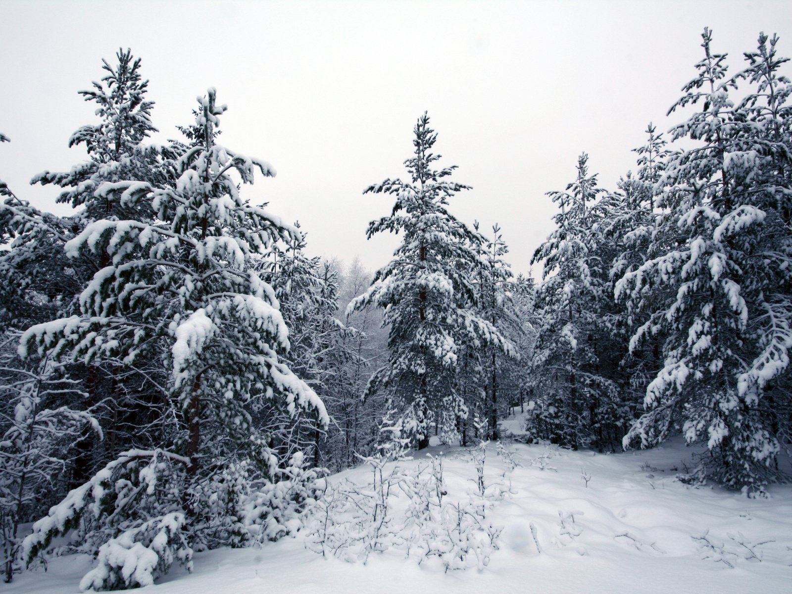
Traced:
<path fill-rule="evenodd" d="M 276 539 L 295 529 L 310 497 L 303 456 L 278 459 L 268 428 L 253 423 L 268 410 L 315 411 L 327 422 L 314 391 L 279 360 L 287 329 L 254 269 L 254 253 L 300 234 L 242 200 L 231 172 L 246 184 L 255 169 L 275 172 L 212 142 L 226 109 L 214 89 L 199 105 L 204 146 L 173 163 L 175 187 L 133 179 L 95 191 L 131 209 L 150 204 L 156 218 L 99 220 L 67 242 L 70 257 L 106 253 L 108 265 L 82 291 L 79 314 L 33 326 L 21 339 L 23 355 L 127 367 L 158 356 L 165 365 L 158 446 L 118 455 L 25 539 L 29 561 L 82 520 L 100 558 L 85 588 L 145 585 L 176 558 L 189 564 L 194 546 Z M 289 484 L 275 486 L 282 481 Z M 141 571 L 131 573 L 125 559 L 141 560 Z"/>

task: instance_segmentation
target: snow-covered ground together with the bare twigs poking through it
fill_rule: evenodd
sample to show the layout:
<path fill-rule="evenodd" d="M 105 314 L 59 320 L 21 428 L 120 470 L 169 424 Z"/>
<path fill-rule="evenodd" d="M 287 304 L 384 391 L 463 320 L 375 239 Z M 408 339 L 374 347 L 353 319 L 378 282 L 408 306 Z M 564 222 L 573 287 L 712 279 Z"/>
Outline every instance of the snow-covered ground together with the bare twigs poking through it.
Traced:
<path fill-rule="evenodd" d="M 434 446 L 379 479 L 371 464 L 333 475 L 311 530 L 197 553 L 193 573 L 173 569 L 153 591 L 792 591 L 790 485 L 768 499 L 683 485 L 680 441 L 616 455 L 489 444 L 482 497 L 476 455 Z M 372 478 L 390 484 L 386 504 Z M 364 522 L 377 505 L 379 527 Z M 77 592 L 91 563 L 52 559 L 6 592 Z"/>

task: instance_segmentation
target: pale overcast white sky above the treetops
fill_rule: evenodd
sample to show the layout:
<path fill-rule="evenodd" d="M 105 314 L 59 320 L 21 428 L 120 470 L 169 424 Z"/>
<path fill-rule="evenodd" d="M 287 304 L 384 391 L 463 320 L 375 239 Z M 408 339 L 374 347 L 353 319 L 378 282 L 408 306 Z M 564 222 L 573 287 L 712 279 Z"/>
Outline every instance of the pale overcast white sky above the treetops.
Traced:
<path fill-rule="evenodd" d="M 406 177 L 412 129 L 428 110 L 442 165 L 473 189 L 459 219 L 500 223 L 515 272 L 553 228 L 545 196 L 590 155 L 600 185 L 635 169 L 650 120 L 695 75 L 700 34 L 731 71 L 778 32 L 792 55 L 792 2 L 36 2 L 0 0 L 0 178 L 39 208 L 67 214 L 44 169 L 86 158 L 70 134 L 94 123 L 77 91 L 102 77 L 118 48 L 143 59 L 156 102 L 154 142 L 178 136 L 209 86 L 229 107 L 221 142 L 278 170 L 243 196 L 307 231 L 308 253 L 368 268 L 397 239 L 366 240 L 392 199 L 367 185 Z M 785 74 L 792 76 L 792 68 Z"/>

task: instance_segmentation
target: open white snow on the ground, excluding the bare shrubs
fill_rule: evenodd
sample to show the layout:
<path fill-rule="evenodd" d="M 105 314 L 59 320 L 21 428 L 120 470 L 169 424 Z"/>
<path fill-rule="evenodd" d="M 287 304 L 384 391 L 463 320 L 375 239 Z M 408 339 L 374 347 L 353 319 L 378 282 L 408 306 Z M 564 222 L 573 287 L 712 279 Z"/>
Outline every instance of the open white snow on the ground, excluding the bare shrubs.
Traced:
<path fill-rule="evenodd" d="M 505 425 L 518 428 L 519 422 Z M 428 453 L 440 455 L 441 450 L 447 499 L 470 497 L 475 490 L 470 455 L 440 446 Z M 152 591 L 792 592 L 792 486 L 772 486 L 770 498 L 753 500 L 720 488 L 683 485 L 674 475 L 690 464 L 691 450 L 679 440 L 616 455 L 524 444 L 508 450 L 520 463 L 514 470 L 496 447 L 487 450 L 487 482 L 511 482 L 512 493 L 495 501 L 489 512 L 504 530 L 499 550 L 481 572 L 445 572 L 436 558 L 419 565 L 402 550 L 372 554 L 365 565 L 323 558 L 307 550 L 302 534 L 261 549 L 196 554 L 193 573 L 174 565 Z M 400 465 L 425 465 L 424 454 Z M 370 477 L 364 466 L 330 480 L 364 484 Z M 693 538 L 705 534 L 714 549 Z M 86 556 L 55 558 L 46 573 L 24 573 L 4 584 L 3 591 L 78 592 L 90 565 Z"/>

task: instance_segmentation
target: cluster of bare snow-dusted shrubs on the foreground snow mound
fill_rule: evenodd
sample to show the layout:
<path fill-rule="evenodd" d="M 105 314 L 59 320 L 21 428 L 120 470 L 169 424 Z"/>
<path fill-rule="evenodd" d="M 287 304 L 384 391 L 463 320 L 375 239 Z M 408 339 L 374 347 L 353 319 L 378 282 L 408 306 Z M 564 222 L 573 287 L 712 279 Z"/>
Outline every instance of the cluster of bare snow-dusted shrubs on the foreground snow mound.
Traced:
<path fill-rule="evenodd" d="M 502 530 L 488 512 L 493 501 L 508 493 L 500 483 L 485 481 L 485 442 L 470 451 L 476 490 L 466 500 L 449 501 L 442 456 L 429 456 L 428 464 L 409 471 L 400 466 L 409 443 L 403 418 L 396 423 L 386 418 L 381 431 L 388 437 L 376 455 L 365 458 L 371 483 L 327 486 L 307 546 L 348 562 L 366 562 L 372 552 L 395 549 L 419 563 L 439 558 L 446 570 L 483 569 L 497 550 Z"/>

